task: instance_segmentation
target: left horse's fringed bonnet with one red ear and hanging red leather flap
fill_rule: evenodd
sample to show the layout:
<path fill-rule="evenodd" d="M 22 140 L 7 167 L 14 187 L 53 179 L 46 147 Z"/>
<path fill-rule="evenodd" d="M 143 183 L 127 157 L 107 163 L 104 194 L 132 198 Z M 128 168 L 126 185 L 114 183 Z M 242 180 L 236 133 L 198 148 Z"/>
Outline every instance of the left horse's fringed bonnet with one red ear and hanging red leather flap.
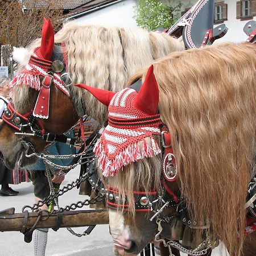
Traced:
<path fill-rule="evenodd" d="M 39 94 L 42 95 L 39 95 L 39 104 L 36 104 L 33 112 L 33 115 L 39 118 L 48 118 L 48 97 L 49 86 L 51 84 L 57 86 L 61 91 L 70 97 L 68 90 L 63 84 L 63 79 L 61 79 L 61 75 L 63 75 L 65 72 L 65 67 L 67 67 L 67 60 L 65 60 L 65 56 L 61 54 L 61 57 L 64 59 L 63 61 L 52 61 L 51 59 L 54 47 L 54 30 L 51 21 L 44 18 L 41 46 L 35 49 L 26 67 L 19 72 L 9 84 L 10 89 L 16 85 L 25 84 L 30 88 L 40 90 Z M 40 76 L 43 77 L 42 82 L 40 81 Z M 42 97 L 44 97 L 44 104 L 47 102 L 48 105 L 42 105 Z"/>

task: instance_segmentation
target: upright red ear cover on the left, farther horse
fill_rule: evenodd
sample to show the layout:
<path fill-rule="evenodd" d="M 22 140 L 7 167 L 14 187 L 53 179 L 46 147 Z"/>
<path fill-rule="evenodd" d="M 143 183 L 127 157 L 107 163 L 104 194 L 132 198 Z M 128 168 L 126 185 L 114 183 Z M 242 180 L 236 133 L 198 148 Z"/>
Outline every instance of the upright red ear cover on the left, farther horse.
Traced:
<path fill-rule="evenodd" d="M 39 48 L 45 60 L 51 60 L 54 46 L 54 30 L 50 19 L 44 17 L 44 24 L 42 28 L 42 42 Z"/>

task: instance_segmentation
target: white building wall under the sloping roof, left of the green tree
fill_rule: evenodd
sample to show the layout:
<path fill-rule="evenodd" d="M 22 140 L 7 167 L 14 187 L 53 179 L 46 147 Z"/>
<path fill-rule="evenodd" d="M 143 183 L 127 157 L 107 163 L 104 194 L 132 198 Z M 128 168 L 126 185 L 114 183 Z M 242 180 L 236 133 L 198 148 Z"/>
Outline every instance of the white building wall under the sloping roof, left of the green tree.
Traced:
<path fill-rule="evenodd" d="M 133 18 L 135 5 L 137 5 L 136 0 L 122 1 L 83 15 L 76 18 L 75 21 L 82 24 L 137 27 L 136 20 Z"/>

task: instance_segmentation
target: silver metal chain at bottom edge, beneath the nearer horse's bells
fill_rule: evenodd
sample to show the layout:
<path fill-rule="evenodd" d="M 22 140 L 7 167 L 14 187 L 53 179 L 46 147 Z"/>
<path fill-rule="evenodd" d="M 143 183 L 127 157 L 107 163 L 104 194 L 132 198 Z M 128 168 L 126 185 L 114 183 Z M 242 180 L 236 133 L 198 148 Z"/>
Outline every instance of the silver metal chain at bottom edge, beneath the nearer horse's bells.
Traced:
<path fill-rule="evenodd" d="M 207 247 L 205 249 L 201 249 L 205 245 L 207 245 Z M 168 241 L 167 246 L 168 247 L 175 247 L 177 250 L 181 251 L 182 253 L 186 253 L 186 254 L 189 254 L 189 255 L 192 255 L 192 256 L 204 255 L 212 247 L 212 245 L 210 244 L 210 238 L 209 237 L 207 237 L 206 240 L 201 242 L 200 245 L 196 247 L 196 249 L 187 249 L 184 246 L 182 246 L 179 242 L 175 242 L 175 241 Z"/>

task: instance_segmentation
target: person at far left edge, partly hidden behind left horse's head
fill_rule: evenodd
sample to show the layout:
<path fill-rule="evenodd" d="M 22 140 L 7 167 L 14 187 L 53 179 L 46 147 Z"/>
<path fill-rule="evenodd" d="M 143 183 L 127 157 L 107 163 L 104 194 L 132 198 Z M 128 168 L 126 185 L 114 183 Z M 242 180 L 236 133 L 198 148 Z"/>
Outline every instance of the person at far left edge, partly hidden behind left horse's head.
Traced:
<path fill-rule="evenodd" d="M 7 97 L 9 93 L 9 79 L 6 76 L 0 76 L 0 96 Z M 5 102 L 1 100 L 0 102 L 0 109 L 3 112 L 3 109 L 5 109 Z M 1 112 L 1 115 L 2 115 Z M 2 122 L 2 120 L 1 120 Z M 0 184 L 1 184 L 1 190 L 0 195 L 1 196 L 16 196 L 18 195 L 18 191 L 14 191 L 9 184 L 14 184 L 13 180 L 13 171 L 10 170 L 5 166 L 5 163 L 3 160 L 0 160 Z"/>

